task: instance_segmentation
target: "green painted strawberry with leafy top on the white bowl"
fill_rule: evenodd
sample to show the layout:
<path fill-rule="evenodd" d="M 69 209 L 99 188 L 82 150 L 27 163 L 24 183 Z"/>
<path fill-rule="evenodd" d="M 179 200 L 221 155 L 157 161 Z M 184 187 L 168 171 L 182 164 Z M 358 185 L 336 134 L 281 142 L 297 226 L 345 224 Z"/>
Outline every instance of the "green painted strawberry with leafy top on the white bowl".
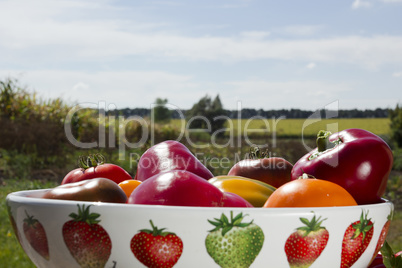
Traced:
<path fill-rule="evenodd" d="M 250 267 L 258 256 L 264 243 L 262 229 L 253 223 L 243 223 L 243 213 L 230 220 L 222 213 L 220 219 L 208 220 L 214 229 L 205 239 L 208 254 L 220 267 Z"/>

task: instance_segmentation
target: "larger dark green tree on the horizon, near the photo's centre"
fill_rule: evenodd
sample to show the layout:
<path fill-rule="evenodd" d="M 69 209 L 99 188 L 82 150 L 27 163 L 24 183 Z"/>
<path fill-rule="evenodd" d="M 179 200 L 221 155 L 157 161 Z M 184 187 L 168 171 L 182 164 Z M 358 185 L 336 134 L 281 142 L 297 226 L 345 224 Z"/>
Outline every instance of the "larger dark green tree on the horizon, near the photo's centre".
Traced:
<path fill-rule="evenodd" d="M 223 129 L 226 119 L 220 118 L 225 115 L 222 102 L 219 95 L 214 100 L 206 95 L 201 98 L 193 107 L 187 112 L 187 120 L 191 120 L 189 127 L 198 129 L 210 128 L 211 134 Z M 223 132 L 217 133 L 217 136 L 222 136 Z"/>

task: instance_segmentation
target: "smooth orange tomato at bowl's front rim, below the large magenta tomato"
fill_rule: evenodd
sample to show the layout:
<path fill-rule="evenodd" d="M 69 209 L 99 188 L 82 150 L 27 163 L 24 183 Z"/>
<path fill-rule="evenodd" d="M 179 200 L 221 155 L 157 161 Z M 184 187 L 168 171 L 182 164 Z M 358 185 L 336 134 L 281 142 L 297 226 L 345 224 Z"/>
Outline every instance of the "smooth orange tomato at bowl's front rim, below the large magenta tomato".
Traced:
<path fill-rule="evenodd" d="M 333 207 L 356 206 L 354 198 L 330 181 L 308 178 L 306 174 L 273 192 L 264 207 Z"/>

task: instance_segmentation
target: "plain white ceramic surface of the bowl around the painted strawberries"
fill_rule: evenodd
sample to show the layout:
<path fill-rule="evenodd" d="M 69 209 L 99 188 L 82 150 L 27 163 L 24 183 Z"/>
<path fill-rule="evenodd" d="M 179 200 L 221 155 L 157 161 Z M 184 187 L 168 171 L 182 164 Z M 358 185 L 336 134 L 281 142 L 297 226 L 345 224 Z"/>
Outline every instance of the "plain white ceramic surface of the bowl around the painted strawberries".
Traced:
<path fill-rule="evenodd" d="M 106 253 L 103 252 L 103 258 L 107 260 L 105 267 L 108 268 L 146 267 L 133 254 L 130 243 L 140 230 L 151 229 L 150 220 L 158 228 L 166 228 L 165 231 L 173 232 L 181 239 L 182 254 L 174 267 L 219 267 L 207 251 L 206 238 L 209 231 L 214 228 L 208 220 L 221 218 L 222 214 L 230 219 L 231 213 L 234 216 L 243 213 L 243 222 L 252 221 L 263 233 L 263 235 L 257 234 L 261 249 L 259 252 L 254 250 L 256 257 L 250 267 L 275 268 L 289 267 L 284 250 L 287 238 L 298 227 L 303 226 L 300 218 L 311 220 L 314 215 L 325 219 L 322 226 L 328 231 L 329 240 L 310 267 L 339 268 L 346 229 L 352 223 L 359 221 L 362 213 L 367 214 L 373 223 L 373 236 L 364 253 L 352 266 L 367 267 L 376 254 L 376 246 L 388 216 L 393 214 L 393 204 L 389 201 L 351 207 L 268 209 L 147 206 L 28 197 L 40 194 L 42 191 L 45 190 L 11 193 L 7 196 L 7 205 L 11 221 L 14 221 L 15 232 L 29 258 L 37 267 L 52 268 L 80 267 L 67 248 L 63 235 L 63 225 L 71 220 L 69 215 L 78 212 L 77 204 L 90 206 L 90 212 L 100 215 L 98 225 L 103 227 L 111 241 L 110 250 L 103 247 L 106 250 Z M 27 239 L 28 234 L 24 231 L 24 219 L 27 218 L 27 214 L 37 219 L 43 226 L 45 242 L 48 244 L 48 258 L 39 254 Z M 43 242 L 43 238 L 37 238 L 36 241 Z M 76 251 L 81 250 L 80 247 L 77 246 Z"/>

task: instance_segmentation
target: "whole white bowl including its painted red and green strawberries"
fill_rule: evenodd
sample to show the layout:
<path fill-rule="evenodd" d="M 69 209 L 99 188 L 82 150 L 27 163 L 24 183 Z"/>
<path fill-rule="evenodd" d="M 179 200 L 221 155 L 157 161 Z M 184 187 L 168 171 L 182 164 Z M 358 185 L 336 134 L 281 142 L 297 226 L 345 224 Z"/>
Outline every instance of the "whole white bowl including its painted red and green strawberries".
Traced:
<path fill-rule="evenodd" d="M 32 197 L 36 191 L 45 190 L 11 193 L 6 203 L 21 246 L 37 267 L 49 268 L 367 267 L 393 215 L 385 200 L 347 207 L 179 207 Z M 36 240 L 33 226 L 42 233 Z M 48 249 L 32 241 L 47 241 Z"/>

